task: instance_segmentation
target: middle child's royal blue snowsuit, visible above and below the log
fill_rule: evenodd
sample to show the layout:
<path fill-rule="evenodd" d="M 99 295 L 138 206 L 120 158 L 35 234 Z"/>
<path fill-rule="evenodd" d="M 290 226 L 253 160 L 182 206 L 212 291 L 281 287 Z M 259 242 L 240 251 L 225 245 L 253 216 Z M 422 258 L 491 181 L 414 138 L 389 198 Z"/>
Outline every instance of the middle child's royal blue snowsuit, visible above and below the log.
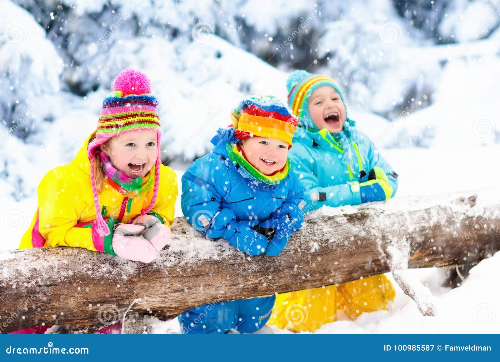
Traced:
<path fill-rule="evenodd" d="M 264 183 L 245 173 L 243 167 L 229 159 L 226 148 L 228 143 L 238 141 L 233 128 L 219 129 L 211 140 L 215 146 L 212 152 L 189 166 L 182 176 L 182 212 L 207 237 L 228 240 L 250 255 L 277 255 L 289 234 L 302 225 L 304 188 L 291 169 L 277 184 Z M 266 245 L 268 239 L 253 228 L 284 215 L 293 220 L 284 228 L 286 237 Z M 183 312 L 178 319 L 184 333 L 225 333 L 231 328 L 253 332 L 269 319 L 274 299 L 272 295 L 214 302 Z"/>

